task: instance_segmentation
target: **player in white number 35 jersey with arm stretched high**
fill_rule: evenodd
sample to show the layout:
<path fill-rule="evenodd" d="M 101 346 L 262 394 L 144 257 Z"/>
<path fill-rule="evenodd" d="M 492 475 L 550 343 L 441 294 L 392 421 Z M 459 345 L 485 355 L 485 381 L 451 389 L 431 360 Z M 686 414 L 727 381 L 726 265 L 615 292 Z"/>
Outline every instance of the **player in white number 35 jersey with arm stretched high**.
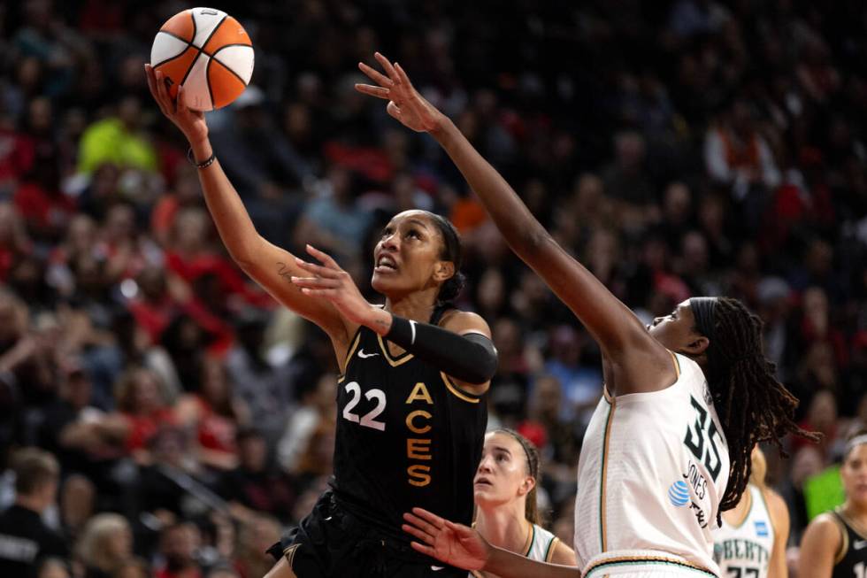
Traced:
<path fill-rule="evenodd" d="M 564 250 L 460 130 L 379 53 L 378 86 L 403 125 L 432 135 L 463 173 L 512 250 L 546 281 L 599 343 L 603 397 L 578 466 L 575 553 L 586 577 L 718 576 L 711 529 L 749 479 L 756 442 L 778 446 L 797 399 L 762 351 L 762 322 L 740 301 L 698 297 L 645 327 Z M 418 551 L 467 569 L 511 576 L 576 575 L 494 548 L 465 526 L 415 509 L 404 526 Z"/>

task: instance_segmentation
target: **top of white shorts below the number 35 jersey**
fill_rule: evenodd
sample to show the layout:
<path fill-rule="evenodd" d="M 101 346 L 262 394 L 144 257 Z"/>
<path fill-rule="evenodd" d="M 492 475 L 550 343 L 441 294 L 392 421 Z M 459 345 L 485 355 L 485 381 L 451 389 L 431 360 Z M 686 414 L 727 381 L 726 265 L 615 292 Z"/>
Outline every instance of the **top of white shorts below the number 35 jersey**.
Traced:
<path fill-rule="evenodd" d="M 581 575 L 583 578 L 718 578 L 715 571 L 716 568 L 711 572 L 664 552 L 621 551 L 596 556 Z"/>

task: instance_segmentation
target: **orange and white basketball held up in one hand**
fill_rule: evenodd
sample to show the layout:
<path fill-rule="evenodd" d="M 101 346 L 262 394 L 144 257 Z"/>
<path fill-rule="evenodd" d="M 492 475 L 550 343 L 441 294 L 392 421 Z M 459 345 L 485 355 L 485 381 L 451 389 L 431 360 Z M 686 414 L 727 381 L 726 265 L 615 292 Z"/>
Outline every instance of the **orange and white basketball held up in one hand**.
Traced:
<path fill-rule="evenodd" d="M 241 95 L 253 74 L 249 35 L 226 12 L 190 8 L 166 20 L 150 49 L 172 96 L 184 87 L 189 108 L 212 111 Z"/>

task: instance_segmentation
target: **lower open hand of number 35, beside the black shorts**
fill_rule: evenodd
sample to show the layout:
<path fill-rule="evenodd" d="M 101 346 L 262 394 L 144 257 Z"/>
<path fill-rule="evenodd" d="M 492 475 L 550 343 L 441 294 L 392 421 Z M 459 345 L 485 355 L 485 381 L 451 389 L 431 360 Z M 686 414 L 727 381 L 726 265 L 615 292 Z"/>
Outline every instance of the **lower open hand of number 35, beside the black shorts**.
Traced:
<path fill-rule="evenodd" d="M 491 555 L 491 545 L 479 532 L 441 518 L 423 508 L 404 513 L 404 532 L 418 538 L 411 545 L 423 554 L 464 570 L 481 570 Z"/>

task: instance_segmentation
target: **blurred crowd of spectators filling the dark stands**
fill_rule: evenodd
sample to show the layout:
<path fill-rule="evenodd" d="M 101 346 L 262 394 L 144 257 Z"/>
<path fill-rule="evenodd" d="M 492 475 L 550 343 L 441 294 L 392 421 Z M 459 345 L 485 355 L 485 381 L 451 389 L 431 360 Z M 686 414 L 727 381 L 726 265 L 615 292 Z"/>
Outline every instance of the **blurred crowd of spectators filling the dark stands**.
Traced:
<path fill-rule="evenodd" d="M 458 305 L 500 355 L 489 424 L 541 448 L 566 543 L 599 351 L 436 143 L 354 91 L 374 50 L 642 319 L 694 295 L 762 316 L 798 419 L 825 435 L 767 452 L 796 548 L 867 426 L 862 2 L 217 4 L 256 68 L 208 114 L 211 141 L 258 230 L 326 250 L 375 300 L 388 217 L 455 223 Z M 187 7 L 0 4 L 0 509 L 23 499 L 60 536 L 41 578 L 258 578 L 331 472 L 331 345 L 228 258 L 147 89 L 150 43 Z"/>

